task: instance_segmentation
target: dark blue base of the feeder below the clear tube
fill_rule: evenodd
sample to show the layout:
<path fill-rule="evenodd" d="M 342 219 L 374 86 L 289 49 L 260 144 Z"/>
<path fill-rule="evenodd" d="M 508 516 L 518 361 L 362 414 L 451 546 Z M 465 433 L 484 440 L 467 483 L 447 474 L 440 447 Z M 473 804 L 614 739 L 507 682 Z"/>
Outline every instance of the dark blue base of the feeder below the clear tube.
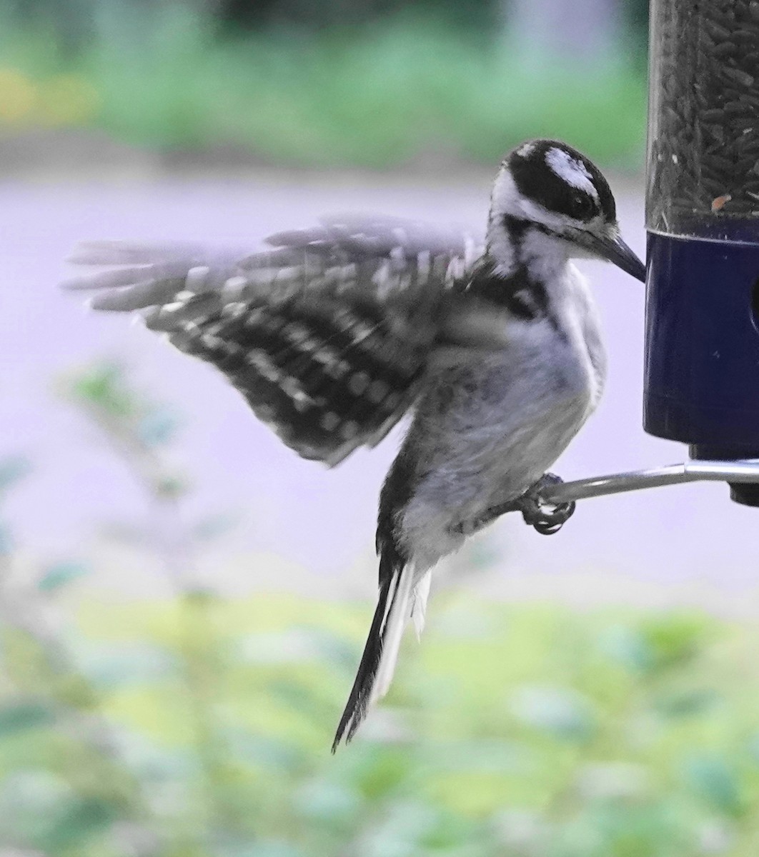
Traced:
<path fill-rule="evenodd" d="M 717 225 L 648 234 L 643 426 L 693 458 L 759 458 L 759 227 Z M 759 487 L 732 498 L 759 506 Z"/>

